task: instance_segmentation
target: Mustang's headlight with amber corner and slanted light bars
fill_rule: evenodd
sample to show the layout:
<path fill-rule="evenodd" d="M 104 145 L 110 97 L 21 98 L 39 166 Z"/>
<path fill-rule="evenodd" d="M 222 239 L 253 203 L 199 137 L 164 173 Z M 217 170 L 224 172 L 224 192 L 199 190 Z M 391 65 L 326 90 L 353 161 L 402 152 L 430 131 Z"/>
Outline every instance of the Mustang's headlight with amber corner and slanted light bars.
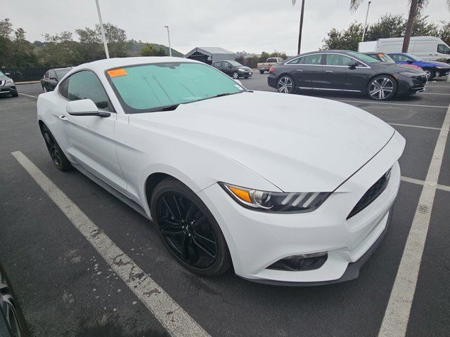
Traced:
<path fill-rule="evenodd" d="M 269 213 L 303 213 L 317 209 L 331 192 L 266 192 L 219 183 L 239 204 Z"/>

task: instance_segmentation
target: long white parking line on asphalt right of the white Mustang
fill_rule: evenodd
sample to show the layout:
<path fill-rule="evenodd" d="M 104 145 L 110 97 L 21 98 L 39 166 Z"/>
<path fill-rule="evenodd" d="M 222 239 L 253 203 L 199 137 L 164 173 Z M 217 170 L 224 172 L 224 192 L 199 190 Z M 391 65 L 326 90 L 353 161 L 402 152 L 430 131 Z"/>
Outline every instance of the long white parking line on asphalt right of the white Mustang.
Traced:
<path fill-rule="evenodd" d="M 447 108 L 444 123 L 439 138 L 437 138 L 435 152 L 433 152 L 432 161 L 428 168 L 427 178 L 423 183 L 411 230 L 406 240 L 399 270 L 378 333 L 379 337 L 404 337 L 406 334 L 449 128 L 450 106 Z"/>

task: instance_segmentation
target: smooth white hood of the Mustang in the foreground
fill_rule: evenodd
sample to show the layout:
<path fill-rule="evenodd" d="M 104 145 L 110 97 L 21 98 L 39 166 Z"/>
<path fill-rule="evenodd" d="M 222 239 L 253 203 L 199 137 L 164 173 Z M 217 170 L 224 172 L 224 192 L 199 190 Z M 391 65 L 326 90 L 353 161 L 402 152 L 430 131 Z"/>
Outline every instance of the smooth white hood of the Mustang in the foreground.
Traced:
<path fill-rule="evenodd" d="M 132 114 L 129 123 L 219 152 L 285 192 L 335 190 L 395 132 L 352 105 L 256 91 Z"/>

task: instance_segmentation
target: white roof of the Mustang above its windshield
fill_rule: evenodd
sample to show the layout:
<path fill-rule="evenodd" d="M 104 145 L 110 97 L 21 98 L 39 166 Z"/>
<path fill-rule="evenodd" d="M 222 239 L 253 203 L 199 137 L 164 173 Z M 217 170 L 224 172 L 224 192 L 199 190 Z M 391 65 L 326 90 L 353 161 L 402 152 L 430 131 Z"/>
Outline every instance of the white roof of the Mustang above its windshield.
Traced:
<path fill-rule="evenodd" d="M 95 72 L 101 73 L 105 70 L 118 68 L 118 67 L 127 67 L 130 65 L 146 65 L 151 63 L 163 63 L 163 62 L 193 62 L 193 63 L 201 63 L 203 62 L 191 60 L 188 58 L 171 58 L 169 56 L 141 56 L 134 58 L 108 58 L 103 60 L 96 60 L 89 63 L 83 63 L 82 65 L 78 65 L 74 68 L 74 70 L 79 69 L 90 69 Z"/>

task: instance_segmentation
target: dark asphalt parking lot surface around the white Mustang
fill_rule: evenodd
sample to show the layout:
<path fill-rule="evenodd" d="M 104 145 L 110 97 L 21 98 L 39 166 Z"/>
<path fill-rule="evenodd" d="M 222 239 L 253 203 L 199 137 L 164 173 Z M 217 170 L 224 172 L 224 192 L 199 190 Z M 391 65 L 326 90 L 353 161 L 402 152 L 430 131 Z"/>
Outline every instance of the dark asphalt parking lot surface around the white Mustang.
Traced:
<path fill-rule="evenodd" d="M 255 73 L 241 81 L 252 90 L 275 91 L 266 77 Z M 254 284 L 232 272 L 207 279 L 184 270 L 148 220 L 81 173 L 53 167 L 36 121 L 34 96 L 41 87 L 23 85 L 18 91 L 18 98 L 0 98 L 0 263 L 33 336 L 168 333 L 20 166 L 11 154 L 15 151 L 23 152 L 211 336 L 378 336 L 391 308 L 391 291 L 399 285 L 397 270 L 411 224 L 418 211 L 430 212 L 406 336 L 449 336 L 450 138 L 444 153 L 436 152 L 439 136 L 448 133 L 441 130 L 450 105 L 445 79 L 430 82 L 423 94 L 387 103 L 361 95 L 301 93 L 374 114 L 406 138 L 406 149 L 392 227 L 359 278 L 300 288 Z M 419 199 L 424 185 L 430 185 L 434 153 L 442 157 L 442 165 L 432 209 L 424 211 Z"/>

